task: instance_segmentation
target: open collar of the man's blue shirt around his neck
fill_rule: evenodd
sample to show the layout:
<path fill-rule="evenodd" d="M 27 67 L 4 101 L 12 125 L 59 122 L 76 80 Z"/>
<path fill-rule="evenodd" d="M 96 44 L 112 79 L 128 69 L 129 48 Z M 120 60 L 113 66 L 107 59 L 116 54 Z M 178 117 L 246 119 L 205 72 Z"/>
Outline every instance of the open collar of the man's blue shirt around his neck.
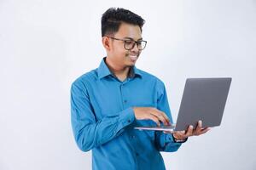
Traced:
<path fill-rule="evenodd" d="M 108 77 L 109 75 L 113 75 L 113 73 L 108 69 L 108 65 L 106 65 L 105 59 L 106 57 L 102 59 L 101 65 L 97 69 L 99 79 L 102 79 L 103 77 Z M 142 77 L 142 73 L 136 68 L 136 66 L 132 66 L 128 72 L 128 77 L 134 78 L 136 76 Z M 113 77 L 115 76 L 113 75 Z"/>

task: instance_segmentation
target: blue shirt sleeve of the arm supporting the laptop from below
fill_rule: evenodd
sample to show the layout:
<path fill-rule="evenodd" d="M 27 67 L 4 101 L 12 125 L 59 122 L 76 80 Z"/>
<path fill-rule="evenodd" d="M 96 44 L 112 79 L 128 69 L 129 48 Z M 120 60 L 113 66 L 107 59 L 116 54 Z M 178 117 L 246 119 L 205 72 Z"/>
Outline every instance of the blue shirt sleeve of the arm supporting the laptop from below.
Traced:
<path fill-rule="evenodd" d="M 172 122 L 172 114 L 168 104 L 166 88 L 163 82 L 160 80 L 156 84 L 156 93 L 157 93 L 157 109 L 166 113 L 166 116 L 169 117 L 170 122 Z M 156 148 L 160 151 L 174 152 L 179 149 L 181 143 L 174 141 L 172 134 L 155 132 L 155 145 Z"/>

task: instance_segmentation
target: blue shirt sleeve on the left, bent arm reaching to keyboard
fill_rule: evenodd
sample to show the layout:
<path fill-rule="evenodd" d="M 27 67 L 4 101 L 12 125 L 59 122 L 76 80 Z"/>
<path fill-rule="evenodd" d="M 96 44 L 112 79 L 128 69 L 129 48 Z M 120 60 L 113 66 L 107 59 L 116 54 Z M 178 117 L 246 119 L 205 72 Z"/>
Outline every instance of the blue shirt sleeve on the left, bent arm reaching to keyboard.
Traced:
<path fill-rule="evenodd" d="M 71 122 L 80 150 L 88 151 L 118 136 L 135 119 L 132 108 L 105 116 L 96 121 L 86 88 L 74 83 L 71 87 Z"/>

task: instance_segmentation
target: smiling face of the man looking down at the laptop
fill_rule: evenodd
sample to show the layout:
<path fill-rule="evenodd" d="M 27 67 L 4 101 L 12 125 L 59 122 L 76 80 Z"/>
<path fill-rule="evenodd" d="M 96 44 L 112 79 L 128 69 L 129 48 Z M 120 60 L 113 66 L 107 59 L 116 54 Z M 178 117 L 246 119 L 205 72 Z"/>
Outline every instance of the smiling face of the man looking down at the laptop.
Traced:
<path fill-rule="evenodd" d="M 127 40 L 126 42 L 131 42 L 131 40 L 142 40 L 142 32 L 139 26 L 134 26 L 131 24 L 122 23 L 119 26 L 119 31 L 113 35 L 113 38 Z M 120 67 L 135 65 L 141 50 L 137 48 L 137 44 L 130 50 L 125 49 L 125 42 L 109 39 L 110 50 L 108 51 L 108 56 L 115 65 Z"/>

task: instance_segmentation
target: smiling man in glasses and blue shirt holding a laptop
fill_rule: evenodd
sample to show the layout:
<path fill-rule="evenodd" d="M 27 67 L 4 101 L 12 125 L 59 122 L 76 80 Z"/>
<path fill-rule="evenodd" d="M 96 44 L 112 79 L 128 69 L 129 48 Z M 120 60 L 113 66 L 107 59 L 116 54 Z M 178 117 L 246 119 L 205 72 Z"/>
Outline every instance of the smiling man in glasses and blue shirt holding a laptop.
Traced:
<path fill-rule="evenodd" d="M 129 10 L 109 8 L 102 15 L 107 57 L 72 84 L 74 138 L 80 150 L 92 150 L 93 169 L 165 169 L 160 151 L 177 151 L 189 136 L 209 130 L 201 122 L 173 134 L 133 128 L 172 123 L 164 83 L 135 66 L 147 43 L 143 24 Z"/>

